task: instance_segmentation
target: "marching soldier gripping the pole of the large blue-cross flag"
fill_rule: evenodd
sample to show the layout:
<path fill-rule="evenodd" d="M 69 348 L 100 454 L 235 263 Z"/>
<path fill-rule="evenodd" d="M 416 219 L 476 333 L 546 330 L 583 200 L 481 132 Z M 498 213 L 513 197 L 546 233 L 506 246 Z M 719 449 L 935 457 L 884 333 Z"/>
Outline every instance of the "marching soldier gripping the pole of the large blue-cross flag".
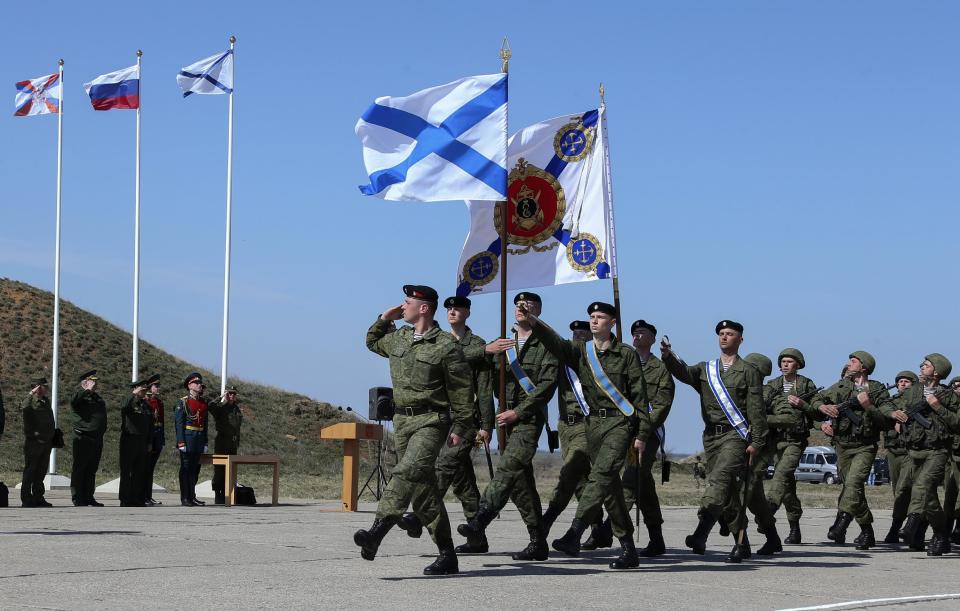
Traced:
<path fill-rule="evenodd" d="M 458 526 L 457 532 L 468 542 L 478 541 L 509 499 L 516 505 L 530 535 L 530 544 L 511 557 L 514 560 L 546 560 L 550 548 L 541 527 L 542 506 L 533 475 L 533 457 L 546 422 L 547 402 L 557 388 L 559 372 L 556 357 L 533 334 L 530 319 L 521 310 L 523 307 L 539 314 L 543 307 L 540 296 L 531 292 L 517 293 L 513 303 L 517 320 L 515 339 L 500 338 L 487 347 L 488 352 L 506 352 L 510 368 L 507 375 L 508 403 L 501 406 L 497 414 L 497 426 L 505 427 L 507 431 L 506 448 L 501 451 L 493 481 L 483 491 L 480 509 L 472 520 Z"/>

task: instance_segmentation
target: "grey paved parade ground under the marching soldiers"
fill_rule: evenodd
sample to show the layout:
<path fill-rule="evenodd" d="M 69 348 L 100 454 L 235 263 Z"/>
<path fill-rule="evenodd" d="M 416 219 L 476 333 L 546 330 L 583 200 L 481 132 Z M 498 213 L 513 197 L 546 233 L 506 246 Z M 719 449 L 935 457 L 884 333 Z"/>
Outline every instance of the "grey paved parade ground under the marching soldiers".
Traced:
<path fill-rule="evenodd" d="M 716 533 L 706 556 L 686 553 L 683 537 L 693 529 L 695 510 L 665 508 L 667 555 L 628 572 L 607 568 L 611 550 L 514 562 L 508 552 L 525 545 L 526 530 L 507 509 L 488 531 L 491 553 L 461 556 L 459 576 L 426 578 L 421 571 L 434 547 L 402 531 L 391 531 L 375 562 L 360 559 L 352 534 L 370 524 L 371 504 L 340 513 L 336 501 L 227 509 L 185 508 L 176 496 L 160 498 L 164 504 L 153 508 L 121 508 L 110 498 L 100 499 L 103 508 L 74 508 L 65 506 L 67 493 L 53 491 L 48 499 L 58 507 L 0 510 L 0 606 L 784 609 L 902 597 L 929 597 L 910 602 L 911 609 L 960 605 L 960 555 L 825 545 L 834 516 L 825 509 L 804 516 L 809 543 L 737 566 L 723 562 L 730 539 Z M 455 528 L 462 514 L 447 507 Z M 551 539 L 570 517 L 568 509 Z M 880 538 L 889 512 L 878 512 L 878 520 Z M 848 538 L 856 533 L 851 528 Z"/>

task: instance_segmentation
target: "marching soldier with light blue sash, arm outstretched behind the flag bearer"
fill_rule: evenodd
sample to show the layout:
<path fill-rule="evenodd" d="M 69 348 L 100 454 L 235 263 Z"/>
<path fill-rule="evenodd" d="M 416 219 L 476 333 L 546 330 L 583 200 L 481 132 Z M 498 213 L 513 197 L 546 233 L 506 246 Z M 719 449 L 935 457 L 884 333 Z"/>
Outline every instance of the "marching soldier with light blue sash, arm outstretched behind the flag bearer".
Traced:
<path fill-rule="evenodd" d="M 590 414 L 587 416 L 587 446 L 590 449 L 590 474 L 577 514 L 563 537 L 553 548 L 568 556 L 580 554 L 580 537 L 591 517 L 606 504 L 614 536 L 620 541 L 620 555 L 610 563 L 612 569 L 639 566 L 633 544 L 633 523 L 623 500 L 620 470 L 627 450 L 644 451 L 644 439 L 651 433 L 646 384 L 637 353 L 617 341 L 611 333 L 617 323 L 617 310 L 609 303 L 596 301 L 587 308 L 592 339 L 565 340 L 540 321 L 535 313 L 521 315 L 533 322 L 534 338 L 539 338 L 566 367 L 589 381 L 581 385 Z M 519 320 L 519 318 L 518 318 Z M 639 409 L 638 407 L 639 406 Z"/>

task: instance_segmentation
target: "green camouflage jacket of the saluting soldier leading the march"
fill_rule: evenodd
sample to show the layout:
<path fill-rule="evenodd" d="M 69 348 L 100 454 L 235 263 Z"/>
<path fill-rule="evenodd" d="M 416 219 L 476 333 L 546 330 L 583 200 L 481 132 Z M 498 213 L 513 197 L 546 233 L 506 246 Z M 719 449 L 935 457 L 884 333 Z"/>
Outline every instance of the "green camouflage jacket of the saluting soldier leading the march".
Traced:
<path fill-rule="evenodd" d="M 452 335 L 434 325 L 419 341 L 413 327 L 397 329 L 377 318 L 367 330 L 367 348 L 390 359 L 393 402 L 398 408 L 450 411 L 452 433 L 473 428 L 473 374 Z"/>

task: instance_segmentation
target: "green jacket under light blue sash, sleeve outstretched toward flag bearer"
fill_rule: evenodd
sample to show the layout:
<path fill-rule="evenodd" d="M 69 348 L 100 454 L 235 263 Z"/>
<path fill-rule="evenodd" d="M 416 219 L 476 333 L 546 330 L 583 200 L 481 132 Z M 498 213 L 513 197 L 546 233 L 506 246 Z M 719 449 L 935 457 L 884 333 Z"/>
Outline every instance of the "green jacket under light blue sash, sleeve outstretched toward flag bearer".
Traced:
<path fill-rule="evenodd" d="M 544 346 L 559 359 L 561 365 L 572 369 L 580 378 L 583 387 L 583 397 L 590 406 L 590 413 L 605 409 L 608 412 L 620 413 L 616 403 L 607 396 L 593 377 L 593 371 L 587 362 L 586 342 L 579 339 L 563 339 L 557 332 L 543 323 L 534 325 L 533 335 L 540 339 Z M 646 439 L 654 432 L 650 426 L 650 416 L 647 414 L 647 384 L 643 378 L 643 368 L 636 350 L 617 340 L 610 338 L 610 347 L 598 352 L 600 366 L 610 378 L 617 390 L 633 405 L 635 419 L 639 425 L 637 437 Z"/>

